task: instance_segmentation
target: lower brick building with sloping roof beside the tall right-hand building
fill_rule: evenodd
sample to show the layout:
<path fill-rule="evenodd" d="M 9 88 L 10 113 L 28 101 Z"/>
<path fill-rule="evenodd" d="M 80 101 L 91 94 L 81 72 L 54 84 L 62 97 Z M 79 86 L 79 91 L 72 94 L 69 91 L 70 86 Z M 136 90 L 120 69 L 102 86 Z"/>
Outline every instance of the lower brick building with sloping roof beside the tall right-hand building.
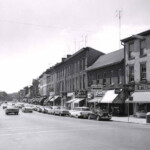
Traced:
<path fill-rule="evenodd" d="M 123 93 L 124 50 L 120 49 L 100 56 L 92 66 L 87 68 L 87 75 L 88 89 L 93 95 L 89 104 L 102 108 L 108 107 L 109 104 L 107 109 L 111 111 L 114 108 L 118 111 L 114 110 L 114 114 L 123 114 L 125 100 Z M 115 94 L 116 89 L 120 91 L 119 94 Z M 107 97 L 107 101 L 105 101 L 105 97 Z"/>

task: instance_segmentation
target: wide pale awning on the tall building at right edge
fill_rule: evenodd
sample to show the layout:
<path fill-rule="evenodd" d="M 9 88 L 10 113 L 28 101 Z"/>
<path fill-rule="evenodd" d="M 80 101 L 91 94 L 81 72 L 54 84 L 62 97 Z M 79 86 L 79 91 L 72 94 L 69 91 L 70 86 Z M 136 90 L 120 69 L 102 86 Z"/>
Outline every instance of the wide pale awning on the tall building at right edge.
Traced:
<path fill-rule="evenodd" d="M 134 92 L 133 100 L 126 100 L 126 103 L 150 103 L 150 92 Z"/>

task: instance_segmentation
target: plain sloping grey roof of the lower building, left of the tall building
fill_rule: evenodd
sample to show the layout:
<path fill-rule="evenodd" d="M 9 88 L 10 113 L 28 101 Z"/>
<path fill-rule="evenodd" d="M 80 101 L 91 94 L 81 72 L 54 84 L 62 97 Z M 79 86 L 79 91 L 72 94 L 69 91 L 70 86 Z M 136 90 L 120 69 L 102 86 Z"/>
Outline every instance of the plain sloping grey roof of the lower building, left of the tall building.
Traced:
<path fill-rule="evenodd" d="M 93 63 L 86 70 L 91 71 L 99 68 L 103 68 L 109 65 L 120 63 L 124 60 L 124 49 L 120 49 L 105 55 L 101 55 L 95 63 Z"/>

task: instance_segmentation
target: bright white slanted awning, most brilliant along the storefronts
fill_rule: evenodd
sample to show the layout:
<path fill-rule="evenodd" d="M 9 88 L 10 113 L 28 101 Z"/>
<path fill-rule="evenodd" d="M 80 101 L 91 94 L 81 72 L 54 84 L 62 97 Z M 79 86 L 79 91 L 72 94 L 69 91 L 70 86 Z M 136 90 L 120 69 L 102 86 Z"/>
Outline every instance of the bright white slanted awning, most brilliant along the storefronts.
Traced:
<path fill-rule="evenodd" d="M 118 94 L 115 94 L 115 90 L 106 91 L 100 103 L 112 103 L 117 96 Z"/>

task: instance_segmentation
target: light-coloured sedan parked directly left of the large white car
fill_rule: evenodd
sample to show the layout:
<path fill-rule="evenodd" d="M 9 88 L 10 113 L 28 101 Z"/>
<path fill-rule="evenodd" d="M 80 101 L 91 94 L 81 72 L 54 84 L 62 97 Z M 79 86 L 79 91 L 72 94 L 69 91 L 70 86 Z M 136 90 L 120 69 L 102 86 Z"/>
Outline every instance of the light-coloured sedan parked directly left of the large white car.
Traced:
<path fill-rule="evenodd" d="M 66 116 L 69 115 L 69 110 L 66 107 L 57 107 L 54 110 L 55 115 Z"/>

